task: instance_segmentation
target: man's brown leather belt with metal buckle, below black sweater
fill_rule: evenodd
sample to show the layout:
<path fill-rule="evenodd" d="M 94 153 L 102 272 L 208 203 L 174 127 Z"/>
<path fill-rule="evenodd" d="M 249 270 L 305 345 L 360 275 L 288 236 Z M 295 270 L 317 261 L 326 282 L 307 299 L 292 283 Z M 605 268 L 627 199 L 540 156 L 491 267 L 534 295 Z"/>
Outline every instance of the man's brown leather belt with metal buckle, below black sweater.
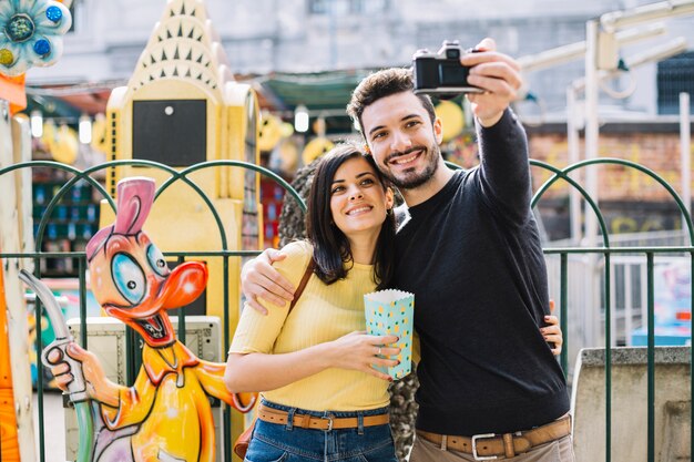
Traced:
<path fill-rule="evenodd" d="M 474 437 L 455 437 L 417 430 L 417 435 L 440 446 L 472 454 L 474 460 L 511 459 L 531 449 L 571 434 L 569 415 L 545 425 L 528 431 L 504 434 L 476 434 Z"/>

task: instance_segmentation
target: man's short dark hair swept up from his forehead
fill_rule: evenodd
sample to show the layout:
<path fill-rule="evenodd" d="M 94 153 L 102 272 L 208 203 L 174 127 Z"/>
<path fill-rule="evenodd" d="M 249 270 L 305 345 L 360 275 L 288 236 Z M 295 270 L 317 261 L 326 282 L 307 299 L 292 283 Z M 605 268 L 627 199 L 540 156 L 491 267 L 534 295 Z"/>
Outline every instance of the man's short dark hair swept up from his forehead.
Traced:
<path fill-rule="evenodd" d="M 366 133 L 364 133 L 364 125 L 361 124 L 364 110 L 381 97 L 411 92 L 414 89 L 415 83 L 411 69 L 390 68 L 375 72 L 359 82 L 355 91 L 351 92 L 351 99 L 349 104 L 347 104 L 347 114 L 358 124 L 358 129 L 366 140 Z M 419 97 L 421 105 L 429 113 L 431 123 L 433 123 L 436 111 L 433 110 L 431 99 L 426 94 L 418 94 L 417 97 Z"/>

